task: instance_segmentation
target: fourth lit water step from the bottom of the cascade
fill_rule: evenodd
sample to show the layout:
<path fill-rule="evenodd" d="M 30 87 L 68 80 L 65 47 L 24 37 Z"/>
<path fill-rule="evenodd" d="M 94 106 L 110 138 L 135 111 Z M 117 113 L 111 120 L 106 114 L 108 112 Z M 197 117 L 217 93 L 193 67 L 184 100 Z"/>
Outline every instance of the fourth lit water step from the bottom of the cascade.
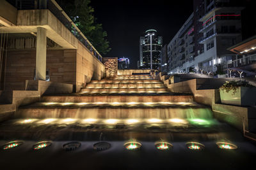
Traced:
<path fill-rule="evenodd" d="M 164 84 L 159 83 L 88 83 L 86 88 L 152 88 L 164 87 Z"/>

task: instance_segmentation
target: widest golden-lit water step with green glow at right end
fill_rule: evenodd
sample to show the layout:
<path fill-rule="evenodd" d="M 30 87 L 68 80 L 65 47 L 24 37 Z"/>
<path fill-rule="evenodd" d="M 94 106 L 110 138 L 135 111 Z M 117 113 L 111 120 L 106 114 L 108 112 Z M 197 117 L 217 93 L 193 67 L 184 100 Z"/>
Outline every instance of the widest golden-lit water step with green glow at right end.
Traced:
<path fill-rule="evenodd" d="M 64 103 L 63 103 L 64 104 Z M 33 104 L 21 107 L 16 118 L 212 118 L 210 108 L 198 104 Z M 157 121 L 157 120 L 156 120 Z M 152 122 L 154 123 L 154 122 Z"/>

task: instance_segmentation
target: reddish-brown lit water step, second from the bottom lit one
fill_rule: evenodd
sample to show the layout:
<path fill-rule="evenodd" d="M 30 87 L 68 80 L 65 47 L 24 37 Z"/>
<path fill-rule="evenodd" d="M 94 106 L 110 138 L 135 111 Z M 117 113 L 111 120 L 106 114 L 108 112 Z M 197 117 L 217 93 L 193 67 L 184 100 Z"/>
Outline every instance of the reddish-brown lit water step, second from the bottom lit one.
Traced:
<path fill-rule="evenodd" d="M 81 96 L 79 94 L 72 94 L 69 96 L 42 96 L 42 102 L 47 103 L 95 103 L 95 102 L 104 102 L 104 103 L 114 103 L 114 102 L 193 102 L 193 96 L 191 95 L 157 95 L 157 96 Z"/>

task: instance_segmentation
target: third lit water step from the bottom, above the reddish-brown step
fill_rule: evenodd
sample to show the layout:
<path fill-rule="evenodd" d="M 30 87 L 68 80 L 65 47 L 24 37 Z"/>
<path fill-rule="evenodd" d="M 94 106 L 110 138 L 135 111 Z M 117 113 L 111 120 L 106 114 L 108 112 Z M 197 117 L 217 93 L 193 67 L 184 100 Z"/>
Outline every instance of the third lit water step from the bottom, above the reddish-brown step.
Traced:
<path fill-rule="evenodd" d="M 81 92 L 168 92 L 166 88 L 83 88 Z"/>

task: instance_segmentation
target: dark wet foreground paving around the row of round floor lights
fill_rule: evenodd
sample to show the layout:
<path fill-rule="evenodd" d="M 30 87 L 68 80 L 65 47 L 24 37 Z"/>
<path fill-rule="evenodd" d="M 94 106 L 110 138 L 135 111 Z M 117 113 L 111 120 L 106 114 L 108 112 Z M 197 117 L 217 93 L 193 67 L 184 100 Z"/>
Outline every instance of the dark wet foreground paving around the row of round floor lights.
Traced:
<path fill-rule="evenodd" d="M 124 150 L 123 142 L 111 142 L 102 152 L 93 151 L 93 142 L 66 152 L 65 141 L 55 142 L 44 150 L 31 150 L 35 141 L 13 150 L 1 150 L 1 169 L 254 169 L 255 146 L 237 143 L 237 150 L 220 150 L 214 143 L 204 143 L 202 152 L 190 152 L 185 143 L 173 143 L 170 151 L 159 151 L 152 142 L 141 142 L 136 152 Z M 3 141 L 1 141 L 3 143 Z M 250 167 L 252 166 L 252 167 Z"/>

